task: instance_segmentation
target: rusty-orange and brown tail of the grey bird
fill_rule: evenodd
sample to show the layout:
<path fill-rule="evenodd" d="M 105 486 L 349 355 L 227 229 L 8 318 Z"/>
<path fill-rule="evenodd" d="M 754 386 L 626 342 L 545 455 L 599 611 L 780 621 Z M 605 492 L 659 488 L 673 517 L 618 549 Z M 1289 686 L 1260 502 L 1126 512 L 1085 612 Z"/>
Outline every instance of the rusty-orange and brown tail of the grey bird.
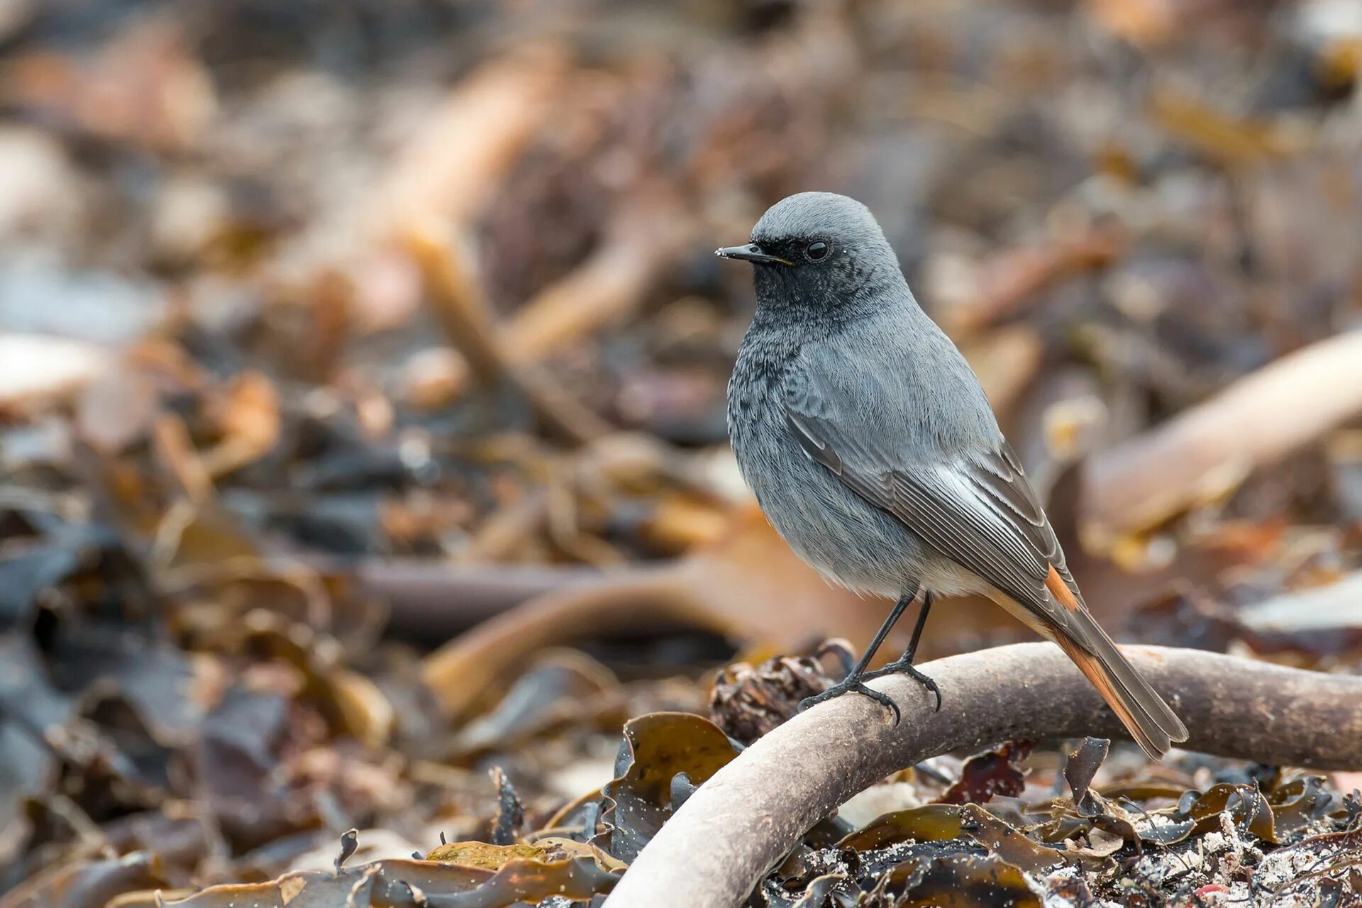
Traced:
<path fill-rule="evenodd" d="M 1159 760 L 1174 742 L 1186 741 L 1188 730 L 1163 697 L 1121 655 L 1111 638 L 1087 610 L 1072 615 L 1083 628 L 1083 643 L 1064 634 L 1053 638 L 1098 689 L 1102 698 L 1151 760 Z"/>

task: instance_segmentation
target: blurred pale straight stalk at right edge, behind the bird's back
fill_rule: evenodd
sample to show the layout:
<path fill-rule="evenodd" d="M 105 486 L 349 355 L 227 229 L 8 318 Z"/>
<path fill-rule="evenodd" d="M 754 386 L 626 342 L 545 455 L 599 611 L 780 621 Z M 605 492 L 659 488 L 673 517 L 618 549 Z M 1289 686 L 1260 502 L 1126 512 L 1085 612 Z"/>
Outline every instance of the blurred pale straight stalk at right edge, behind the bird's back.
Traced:
<path fill-rule="evenodd" d="M 1283 357 L 1205 403 L 1094 456 L 1084 523 L 1095 542 L 1148 530 L 1234 489 L 1249 471 L 1362 412 L 1362 331 Z"/>

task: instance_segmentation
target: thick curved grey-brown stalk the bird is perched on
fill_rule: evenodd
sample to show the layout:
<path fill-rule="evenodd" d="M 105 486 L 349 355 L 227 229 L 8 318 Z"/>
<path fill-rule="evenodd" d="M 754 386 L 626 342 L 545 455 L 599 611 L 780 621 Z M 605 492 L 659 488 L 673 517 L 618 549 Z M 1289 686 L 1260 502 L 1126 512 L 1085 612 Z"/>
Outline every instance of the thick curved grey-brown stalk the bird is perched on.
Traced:
<path fill-rule="evenodd" d="M 1189 749 L 1294 766 L 1362 766 L 1362 678 L 1192 649 L 1125 651 L 1192 730 Z M 795 716 L 686 799 L 607 908 L 738 905 L 814 822 L 928 757 L 1015 738 L 1124 734 L 1050 644 L 951 656 L 922 670 L 945 694 L 940 713 L 915 681 L 899 675 L 872 682 L 903 711 L 898 727 L 866 697 L 839 697 Z"/>

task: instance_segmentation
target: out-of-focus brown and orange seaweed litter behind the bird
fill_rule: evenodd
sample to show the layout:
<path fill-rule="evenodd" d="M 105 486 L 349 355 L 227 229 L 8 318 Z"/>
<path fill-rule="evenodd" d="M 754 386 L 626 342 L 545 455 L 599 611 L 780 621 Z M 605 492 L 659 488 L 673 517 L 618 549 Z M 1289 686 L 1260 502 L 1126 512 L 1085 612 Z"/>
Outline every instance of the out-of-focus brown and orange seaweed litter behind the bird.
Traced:
<path fill-rule="evenodd" d="M 806 189 L 1107 628 L 1355 671 L 1359 68 L 1357 0 L 0 0 L 0 904 L 508 845 L 836 678 L 888 603 L 749 502 L 712 255 Z"/>

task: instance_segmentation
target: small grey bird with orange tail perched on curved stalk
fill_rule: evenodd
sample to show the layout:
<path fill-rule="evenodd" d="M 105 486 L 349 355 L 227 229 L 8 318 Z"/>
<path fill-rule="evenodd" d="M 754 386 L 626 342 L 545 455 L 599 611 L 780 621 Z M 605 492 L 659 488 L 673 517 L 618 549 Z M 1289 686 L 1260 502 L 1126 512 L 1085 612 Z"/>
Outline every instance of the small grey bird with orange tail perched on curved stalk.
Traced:
<path fill-rule="evenodd" d="M 745 246 L 757 309 L 729 383 L 738 466 L 780 536 L 829 580 L 896 599 L 846 692 L 913 667 L 937 595 L 985 594 L 1053 640 L 1158 760 L 1188 731 L 1098 626 L 978 378 L 922 312 L 859 201 L 805 192 L 772 206 Z M 908 649 L 866 671 L 921 592 Z"/>

